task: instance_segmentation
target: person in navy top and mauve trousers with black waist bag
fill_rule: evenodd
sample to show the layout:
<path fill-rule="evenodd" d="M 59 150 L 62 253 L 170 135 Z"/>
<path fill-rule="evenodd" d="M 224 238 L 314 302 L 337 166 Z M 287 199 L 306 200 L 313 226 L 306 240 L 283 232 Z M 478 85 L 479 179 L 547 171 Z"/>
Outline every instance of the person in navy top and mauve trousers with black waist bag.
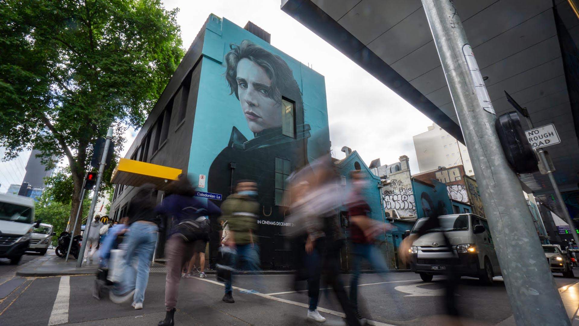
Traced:
<path fill-rule="evenodd" d="M 221 210 L 209 200 L 194 197 L 195 187 L 186 175 L 181 174 L 167 190 L 167 197 L 157 206 L 156 212 L 173 218 L 165 244 L 167 277 L 165 279 L 165 319 L 159 326 L 173 326 L 177 310 L 177 295 L 181 281 L 181 267 L 190 258 L 196 240 L 208 237 L 204 226 L 206 216 L 221 214 Z"/>

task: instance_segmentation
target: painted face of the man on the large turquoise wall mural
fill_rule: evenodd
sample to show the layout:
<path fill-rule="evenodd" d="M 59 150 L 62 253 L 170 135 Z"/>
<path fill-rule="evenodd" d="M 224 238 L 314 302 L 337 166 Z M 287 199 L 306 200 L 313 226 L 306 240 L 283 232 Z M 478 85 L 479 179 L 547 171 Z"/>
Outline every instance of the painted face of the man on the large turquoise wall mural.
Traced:
<path fill-rule="evenodd" d="M 241 110 L 252 132 L 281 126 L 281 103 L 269 97 L 272 80 L 249 59 L 237 63 L 237 94 Z"/>

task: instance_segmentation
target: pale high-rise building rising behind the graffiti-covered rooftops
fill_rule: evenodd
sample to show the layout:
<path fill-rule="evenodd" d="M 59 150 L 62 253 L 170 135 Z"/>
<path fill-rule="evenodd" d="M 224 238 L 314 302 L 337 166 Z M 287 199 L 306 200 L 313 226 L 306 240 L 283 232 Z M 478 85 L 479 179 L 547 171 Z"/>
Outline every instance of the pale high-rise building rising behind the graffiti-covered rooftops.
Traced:
<path fill-rule="evenodd" d="M 419 133 L 412 139 L 421 173 L 437 170 L 439 166 L 450 168 L 463 165 L 466 175 L 474 175 L 467 147 L 437 124 L 428 126 L 428 131 Z"/>

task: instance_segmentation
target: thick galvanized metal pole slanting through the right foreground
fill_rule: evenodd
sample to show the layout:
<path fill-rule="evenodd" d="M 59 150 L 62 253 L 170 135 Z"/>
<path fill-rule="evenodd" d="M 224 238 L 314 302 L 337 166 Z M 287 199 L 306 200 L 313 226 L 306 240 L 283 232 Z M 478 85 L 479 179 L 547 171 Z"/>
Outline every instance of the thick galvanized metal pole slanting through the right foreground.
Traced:
<path fill-rule="evenodd" d="M 523 190 L 494 129 L 496 114 L 452 0 L 422 0 L 472 157 L 517 325 L 570 325 Z M 549 311 L 548 314 L 541 311 Z"/>

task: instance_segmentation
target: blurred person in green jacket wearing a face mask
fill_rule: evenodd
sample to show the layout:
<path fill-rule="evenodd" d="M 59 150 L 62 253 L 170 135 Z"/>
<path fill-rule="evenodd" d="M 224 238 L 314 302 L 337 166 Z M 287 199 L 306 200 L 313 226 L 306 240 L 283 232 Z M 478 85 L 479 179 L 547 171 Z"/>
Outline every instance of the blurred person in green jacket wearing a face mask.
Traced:
<path fill-rule="evenodd" d="M 255 243 L 255 230 L 259 203 L 256 201 L 257 184 L 251 180 L 237 182 L 235 193 L 221 204 L 221 220 L 226 220 L 230 236 L 223 245 L 233 249 L 229 266 L 235 267 L 239 260 L 245 262 L 244 270 L 259 270 L 259 251 Z M 225 281 L 223 301 L 234 303 L 232 277 Z"/>

